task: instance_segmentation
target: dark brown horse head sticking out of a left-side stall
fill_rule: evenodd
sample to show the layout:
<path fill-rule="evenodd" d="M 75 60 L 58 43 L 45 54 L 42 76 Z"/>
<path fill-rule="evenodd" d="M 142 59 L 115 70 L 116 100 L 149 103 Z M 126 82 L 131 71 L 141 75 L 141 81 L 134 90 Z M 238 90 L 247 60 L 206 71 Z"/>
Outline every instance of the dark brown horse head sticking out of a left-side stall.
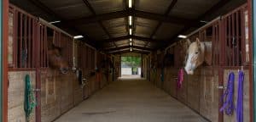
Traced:
<path fill-rule="evenodd" d="M 68 63 L 65 58 L 61 56 L 61 47 L 50 46 L 48 49 L 49 67 L 53 69 L 60 69 L 62 74 L 67 74 Z"/>

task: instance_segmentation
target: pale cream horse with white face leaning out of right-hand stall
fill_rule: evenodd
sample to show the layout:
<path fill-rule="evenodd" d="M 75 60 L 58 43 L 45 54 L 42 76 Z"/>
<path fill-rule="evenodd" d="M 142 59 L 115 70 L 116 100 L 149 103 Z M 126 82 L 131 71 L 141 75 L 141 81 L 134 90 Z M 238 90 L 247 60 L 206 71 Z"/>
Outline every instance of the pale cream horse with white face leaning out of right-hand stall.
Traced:
<path fill-rule="evenodd" d="M 190 42 L 189 48 L 186 55 L 185 71 L 188 75 L 193 75 L 194 70 L 203 64 L 204 62 L 208 65 L 212 64 L 212 42 L 201 42 L 196 38 L 195 42 Z"/>

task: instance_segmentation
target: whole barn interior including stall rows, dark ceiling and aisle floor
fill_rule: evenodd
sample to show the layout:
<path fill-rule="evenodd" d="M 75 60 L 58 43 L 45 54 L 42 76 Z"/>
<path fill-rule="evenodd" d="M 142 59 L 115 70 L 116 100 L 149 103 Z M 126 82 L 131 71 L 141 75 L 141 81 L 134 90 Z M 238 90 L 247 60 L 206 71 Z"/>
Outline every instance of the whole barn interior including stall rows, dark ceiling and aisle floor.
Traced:
<path fill-rule="evenodd" d="M 219 86 L 243 69 L 243 120 L 252 121 L 246 14 L 246 0 L 9 0 L 8 120 L 27 119 L 30 75 L 30 121 L 235 121 L 219 112 Z M 212 42 L 214 53 L 178 88 L 186 38 Z M 68 72 L 49 56 L 55 47 Z M 119 78 L 122 56 L 142 58 L 141 78 Z"/>

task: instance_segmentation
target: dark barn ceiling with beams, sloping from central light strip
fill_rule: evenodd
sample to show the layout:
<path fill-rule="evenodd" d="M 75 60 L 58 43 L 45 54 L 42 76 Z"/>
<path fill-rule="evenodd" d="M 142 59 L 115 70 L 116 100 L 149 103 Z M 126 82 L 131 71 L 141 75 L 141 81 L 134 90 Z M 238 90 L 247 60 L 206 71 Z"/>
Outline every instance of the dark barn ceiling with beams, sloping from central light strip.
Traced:
<path fill-rule="evenodd" d="M 246 0 L 10 0 L 16 6 L 55 24 L 108 53 L 148 53 L 177 41 Z M 132 16 L 132 25 L 128 16 Z M 129 29 L 132 29 L 132 35 Z"/>

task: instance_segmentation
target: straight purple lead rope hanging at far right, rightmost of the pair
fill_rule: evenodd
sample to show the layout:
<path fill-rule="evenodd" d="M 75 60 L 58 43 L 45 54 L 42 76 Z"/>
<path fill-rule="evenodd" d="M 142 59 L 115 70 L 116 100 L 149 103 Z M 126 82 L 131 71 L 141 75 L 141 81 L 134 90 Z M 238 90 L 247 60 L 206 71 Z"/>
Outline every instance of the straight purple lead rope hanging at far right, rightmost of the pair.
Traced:
<path fill-rule="evenodd" d="M 239 71 L 239 78 L 238 78 L 238 90 L 237 90 L 237 105 L 236 105 L 236 121 L 242 122 L 243 121 L 243 80 L 244 80 L 244 73 L 240 70 Z"/>

